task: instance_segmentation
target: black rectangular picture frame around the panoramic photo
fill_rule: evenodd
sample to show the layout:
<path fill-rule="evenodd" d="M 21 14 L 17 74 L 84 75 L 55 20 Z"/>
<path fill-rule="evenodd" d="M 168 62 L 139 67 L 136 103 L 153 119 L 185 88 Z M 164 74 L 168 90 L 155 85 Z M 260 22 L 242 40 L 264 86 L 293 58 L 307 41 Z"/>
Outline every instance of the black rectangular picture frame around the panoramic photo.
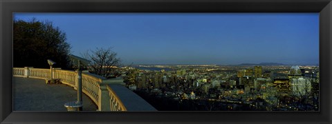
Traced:
<path fill-rule="evenodd" d="M 331 0 L 1 0 L 1 123 L 332 123 Z M 13 12 L 319 12 L 320 112 L 12 112 Z"/>

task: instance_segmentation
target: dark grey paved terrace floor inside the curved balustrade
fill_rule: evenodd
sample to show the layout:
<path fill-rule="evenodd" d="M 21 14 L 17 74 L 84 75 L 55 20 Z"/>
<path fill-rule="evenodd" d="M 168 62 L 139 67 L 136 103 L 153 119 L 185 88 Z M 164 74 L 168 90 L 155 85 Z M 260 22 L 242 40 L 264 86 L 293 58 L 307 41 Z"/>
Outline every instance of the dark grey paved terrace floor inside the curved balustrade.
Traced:
<path fill-rule="evenodd" d="M 13 111 L 67 111 L 64 103 L 77 101 L 77 91 L 64 84 L 46 84 L 42 79 L 13 77 Z M 98 110 L 82 93 L 83 111 Z"/>

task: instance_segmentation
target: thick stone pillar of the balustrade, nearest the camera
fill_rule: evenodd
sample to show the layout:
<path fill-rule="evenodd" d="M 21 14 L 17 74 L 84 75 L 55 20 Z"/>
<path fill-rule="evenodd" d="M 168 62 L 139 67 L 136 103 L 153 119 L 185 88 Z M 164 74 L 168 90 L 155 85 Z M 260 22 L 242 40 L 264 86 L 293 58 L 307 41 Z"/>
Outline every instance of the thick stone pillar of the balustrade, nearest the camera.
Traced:
<path fill-rule="evenodd" d="M 111 111 L 111 104 L 109 99 L 109 90 L 107 90 L 107 84 L 100 83 L 98 92 L 98 110 L 99 111 Z"/>

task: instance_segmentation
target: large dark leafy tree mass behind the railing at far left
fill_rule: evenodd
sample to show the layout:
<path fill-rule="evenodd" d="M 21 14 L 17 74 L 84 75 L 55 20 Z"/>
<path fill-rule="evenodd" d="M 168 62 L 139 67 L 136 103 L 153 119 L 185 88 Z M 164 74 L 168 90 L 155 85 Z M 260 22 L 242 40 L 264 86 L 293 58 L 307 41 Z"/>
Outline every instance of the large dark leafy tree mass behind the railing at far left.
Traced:
<path fill-rule="evenodd" d="M 66 34 L 51 22 L 15 20 L 13 23 L 13 66 L 49 68 L 47 59 L 58 68 L 68 68 L 71 46 Z"/>

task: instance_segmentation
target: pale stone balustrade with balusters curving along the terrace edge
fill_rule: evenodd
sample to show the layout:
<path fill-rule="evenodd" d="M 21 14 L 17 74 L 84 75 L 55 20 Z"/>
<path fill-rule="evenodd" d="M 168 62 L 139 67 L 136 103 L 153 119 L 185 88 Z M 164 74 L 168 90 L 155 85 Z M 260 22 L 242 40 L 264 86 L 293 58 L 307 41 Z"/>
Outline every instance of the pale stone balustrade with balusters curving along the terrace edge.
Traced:
<path fill-rule="evenodd" d="M 21 76 L 34 79 L 50 79 L 50 69 L 41 68 L 13 68 L 13 76 Z M 77 73 L 71 70 L 53 69 L 53 78 L 59 79 L 62 83 L 74 87 L 77 90 Z M 106 82 L 106 83 L 104 83 Z M 91 76 L 82 73 L 82 92 L 89 96 L 98 106 L 99 111 L 111 111 L 113 103 L 121 106 L 120 109 L 112 109 L 112 111 L 125 111 L 125 107 L 119 99 L 113 99 L 111 104 L 110 98 L 116 96 L 116 92 L 109 92 L 107 89 L 107 79 Z"/>

